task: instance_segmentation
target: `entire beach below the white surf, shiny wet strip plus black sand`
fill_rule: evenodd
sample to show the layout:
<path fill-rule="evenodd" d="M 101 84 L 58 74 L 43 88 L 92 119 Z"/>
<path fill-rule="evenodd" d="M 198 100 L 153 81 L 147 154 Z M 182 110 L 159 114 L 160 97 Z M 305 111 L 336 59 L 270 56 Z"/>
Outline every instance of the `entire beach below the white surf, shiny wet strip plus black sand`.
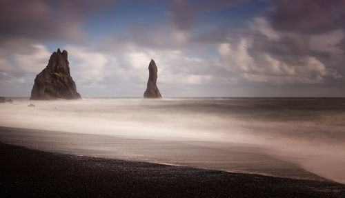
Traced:
<path fill-rule="evenodd" d="M 243 145 L 220 149 L 206 142 L 5 127 L 0 141 L 0 197 L 345 197 L 345 185 Z M 179 166 L 144 162 L 169 159 Z M 222 166 L 303 179 L 225 172 Z"/>

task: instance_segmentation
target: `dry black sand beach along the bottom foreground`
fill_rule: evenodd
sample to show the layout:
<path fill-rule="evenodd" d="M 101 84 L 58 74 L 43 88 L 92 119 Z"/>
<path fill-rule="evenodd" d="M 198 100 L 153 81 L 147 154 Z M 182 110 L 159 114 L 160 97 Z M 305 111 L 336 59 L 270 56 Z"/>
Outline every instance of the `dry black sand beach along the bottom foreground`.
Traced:
<path fill-rule="evenodd" d="M 0 197 L 345 197 L 345 185 L 60 155 L 0 143 Z"/>

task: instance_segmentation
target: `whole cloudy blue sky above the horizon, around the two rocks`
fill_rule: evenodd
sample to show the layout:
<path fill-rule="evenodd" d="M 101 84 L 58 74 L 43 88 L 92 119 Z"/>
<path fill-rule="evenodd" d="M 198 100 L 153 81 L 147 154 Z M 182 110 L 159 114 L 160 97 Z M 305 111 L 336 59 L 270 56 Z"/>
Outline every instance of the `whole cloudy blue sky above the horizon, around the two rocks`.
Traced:
<path fill-rule="evenodd" d="M 343 0 L 0 0 L 0 95 L 57 48 L 81 97 L 345 97 Z"/>

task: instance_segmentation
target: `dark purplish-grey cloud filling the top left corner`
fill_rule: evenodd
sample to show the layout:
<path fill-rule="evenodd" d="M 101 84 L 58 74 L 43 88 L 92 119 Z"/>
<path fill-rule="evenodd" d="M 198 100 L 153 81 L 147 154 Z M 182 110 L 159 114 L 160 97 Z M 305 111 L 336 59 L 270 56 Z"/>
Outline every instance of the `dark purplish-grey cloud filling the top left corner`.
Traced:
<path fill-rule="evenodd" d="M 72 41 L 85 36 L 85 18 L 110 3 L 102 1 L 0 1 L 0 40 Z"/>

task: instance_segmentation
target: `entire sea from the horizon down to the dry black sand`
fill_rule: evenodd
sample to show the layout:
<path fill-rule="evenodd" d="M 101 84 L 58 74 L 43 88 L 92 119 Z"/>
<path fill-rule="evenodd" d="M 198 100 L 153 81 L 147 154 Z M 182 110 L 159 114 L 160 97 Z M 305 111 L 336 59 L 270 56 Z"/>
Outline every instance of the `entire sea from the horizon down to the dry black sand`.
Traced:
<path fill-rule="evenodd" d="M 0 126 L 40 150 L 345 184 L 343 98 L 14 98 Z"/>

